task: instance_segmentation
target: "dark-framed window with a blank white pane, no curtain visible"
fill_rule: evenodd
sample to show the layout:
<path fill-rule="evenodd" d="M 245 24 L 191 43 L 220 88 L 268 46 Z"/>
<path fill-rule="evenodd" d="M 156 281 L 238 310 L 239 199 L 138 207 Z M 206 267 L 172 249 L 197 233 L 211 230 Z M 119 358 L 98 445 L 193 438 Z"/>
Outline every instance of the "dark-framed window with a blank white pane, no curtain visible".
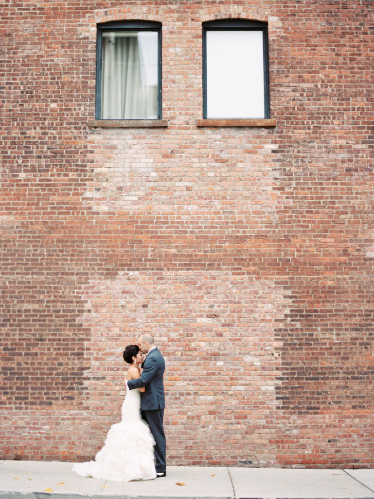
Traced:
<path fill-rule="evenodd" d="M 267 24 L 203 23 L 203 118 L 269 118 Z"/>

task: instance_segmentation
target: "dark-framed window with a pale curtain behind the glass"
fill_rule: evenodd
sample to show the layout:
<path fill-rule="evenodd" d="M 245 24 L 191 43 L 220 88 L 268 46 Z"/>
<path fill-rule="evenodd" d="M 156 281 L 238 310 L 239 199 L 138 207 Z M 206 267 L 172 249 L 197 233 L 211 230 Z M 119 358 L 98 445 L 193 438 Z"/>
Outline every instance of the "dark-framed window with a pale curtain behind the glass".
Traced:
<path fill-rule="evenodd" d="M 161 24 L 98 24 L 96 119 L 161 119 Z"/>

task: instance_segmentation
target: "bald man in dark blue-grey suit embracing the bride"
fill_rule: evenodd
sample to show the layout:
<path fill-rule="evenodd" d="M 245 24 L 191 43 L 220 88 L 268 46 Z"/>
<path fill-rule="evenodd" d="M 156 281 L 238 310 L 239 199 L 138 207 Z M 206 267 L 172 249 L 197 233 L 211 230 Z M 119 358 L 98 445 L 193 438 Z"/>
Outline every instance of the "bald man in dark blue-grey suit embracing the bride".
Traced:
<path fill-rule="evenodd" d="M 128 380 L 127 386 L 129 390 L 146 387 L 145 392 L 140 393 L 141 416 L 148 423 L 155 441 L 156 476 L 166 477 L 166 439 L 163 429 L 165 394 L 162 378 L 165 361 L 149 333 L 139 336 L 138 341 L 140 350 L 147 356 L 142 364 L 140 378 Z"/>

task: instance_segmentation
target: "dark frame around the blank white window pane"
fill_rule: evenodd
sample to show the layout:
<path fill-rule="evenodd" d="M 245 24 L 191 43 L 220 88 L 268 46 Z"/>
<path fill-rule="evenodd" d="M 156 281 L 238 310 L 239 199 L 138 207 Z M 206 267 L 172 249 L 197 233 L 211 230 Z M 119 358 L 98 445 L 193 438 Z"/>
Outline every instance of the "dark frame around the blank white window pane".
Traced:
<path fill-rule="evenodd" d="M 249 19 L 220 19 L 207 21 L 202 24 L 203 41 L 203 119 L 207 117 L 207 31 L 262 31 L 262 54 L 263 54 L 263 92 L 264 92 L 264 118 L 270 118 L 270 93 L 269 93 L 269 47 L 267 22 L 252 21 Z M 236 118 L 225 118 L 235 120 Z M 249 118 L 250 119 L 250 118 Z"/>

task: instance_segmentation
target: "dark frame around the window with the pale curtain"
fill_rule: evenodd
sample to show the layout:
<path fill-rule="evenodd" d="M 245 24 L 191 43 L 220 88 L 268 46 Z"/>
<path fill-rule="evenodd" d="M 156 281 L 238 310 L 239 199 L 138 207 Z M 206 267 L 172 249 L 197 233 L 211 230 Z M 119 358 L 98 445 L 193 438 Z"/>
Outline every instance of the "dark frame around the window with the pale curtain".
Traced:
<path fill-rule="evenodd" d="M 157 32 L 157 119 L 162 119 L 162 24 L 156 21 L 111 21 L 97 24 L 96 41 L 96 92 L 95 118 L 101 120 L 101 71 L 102 71 L 102 34 L 104 31 L 156 31 Z M 135 121 L 135 120 L 134 120 Z M 139 121 L 139 120 L 136 120 Z"/>

